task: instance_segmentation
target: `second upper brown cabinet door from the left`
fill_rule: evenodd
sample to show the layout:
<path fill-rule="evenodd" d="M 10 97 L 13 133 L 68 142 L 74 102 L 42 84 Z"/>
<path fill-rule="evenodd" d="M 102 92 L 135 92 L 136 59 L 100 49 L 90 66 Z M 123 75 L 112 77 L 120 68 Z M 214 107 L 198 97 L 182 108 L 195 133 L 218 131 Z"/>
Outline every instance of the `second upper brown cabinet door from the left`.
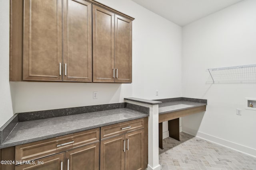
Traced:
<path fill-rule="evenodd" d="M 63 81 L 92 82 L 92 4 L 63 5 Z"/>

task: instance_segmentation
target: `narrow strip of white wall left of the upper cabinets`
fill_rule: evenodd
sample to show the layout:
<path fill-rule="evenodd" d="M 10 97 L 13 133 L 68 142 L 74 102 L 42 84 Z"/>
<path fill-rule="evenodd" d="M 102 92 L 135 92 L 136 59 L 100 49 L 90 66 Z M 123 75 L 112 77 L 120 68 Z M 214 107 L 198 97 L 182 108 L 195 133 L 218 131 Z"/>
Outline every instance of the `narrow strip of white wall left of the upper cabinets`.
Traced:
<path fill-rule="evenodd" d="M 9 3 L 0 2 L 0 126 L 13 115 L 9 85 Z"/>

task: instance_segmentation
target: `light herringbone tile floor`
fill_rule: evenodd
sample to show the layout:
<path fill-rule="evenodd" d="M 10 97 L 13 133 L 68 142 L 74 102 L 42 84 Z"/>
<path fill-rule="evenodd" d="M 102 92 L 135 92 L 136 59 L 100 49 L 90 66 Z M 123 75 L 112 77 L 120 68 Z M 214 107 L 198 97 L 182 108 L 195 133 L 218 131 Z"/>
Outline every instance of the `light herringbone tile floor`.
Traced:
<path fill-rule="evenodd" d="M 180 141 L 170 137 L 159 149 L 161 170 L 256 170 L 256 158 L 180 133 Z"/>

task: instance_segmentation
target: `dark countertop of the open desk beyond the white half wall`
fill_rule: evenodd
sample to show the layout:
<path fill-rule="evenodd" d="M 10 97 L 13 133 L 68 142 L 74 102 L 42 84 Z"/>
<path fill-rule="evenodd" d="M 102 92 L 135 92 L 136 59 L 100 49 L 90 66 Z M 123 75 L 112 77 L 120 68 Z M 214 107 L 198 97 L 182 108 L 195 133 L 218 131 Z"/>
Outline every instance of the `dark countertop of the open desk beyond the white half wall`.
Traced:
<path fill-rule="evenodd" d="M 173 111 L 179 111 L 184 109 L 190 109 L 193 107 L 206 106 L 206 103 L 200 102 L 190 102 L 190 101 L 174 101 L 174 102 L 165 102 L 159 104 L 158 114 L 170 113 Z"/>

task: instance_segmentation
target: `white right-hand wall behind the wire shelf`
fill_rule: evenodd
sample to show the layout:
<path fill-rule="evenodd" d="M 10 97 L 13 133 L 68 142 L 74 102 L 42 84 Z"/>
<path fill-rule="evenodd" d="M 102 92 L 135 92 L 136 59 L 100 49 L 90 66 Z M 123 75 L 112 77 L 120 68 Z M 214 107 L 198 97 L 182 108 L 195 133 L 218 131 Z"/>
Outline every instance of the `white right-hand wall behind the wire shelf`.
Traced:
<path fill-rule="evenodd" d="M 244 0 L 183 27 L 182 96 L 208 100 L 205 113 L 182 118 L 183 131 L 256 155 L 256 111 L 245 109 L 245 98 L 256 98 L 255 82 L 212 84 L 205 72 L 255 63 L 255 0 Z M 242 109 L 242 116 L 236 115 L 236 108 Z"/>

